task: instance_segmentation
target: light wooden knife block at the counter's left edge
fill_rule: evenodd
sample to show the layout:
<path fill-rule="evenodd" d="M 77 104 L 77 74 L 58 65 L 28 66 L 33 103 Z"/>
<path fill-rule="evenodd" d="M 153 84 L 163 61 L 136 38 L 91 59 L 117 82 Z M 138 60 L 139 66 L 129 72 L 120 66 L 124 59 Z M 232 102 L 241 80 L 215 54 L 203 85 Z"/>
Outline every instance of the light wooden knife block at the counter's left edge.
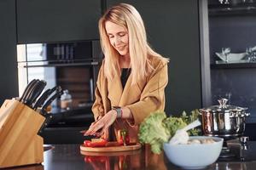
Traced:
<path fill-rule="evenodd" d="M 5 100 L 0 108 L 0 168 L 44 161 L 44 139 L 38 130 L 44 116 L 17 100 Z"/>

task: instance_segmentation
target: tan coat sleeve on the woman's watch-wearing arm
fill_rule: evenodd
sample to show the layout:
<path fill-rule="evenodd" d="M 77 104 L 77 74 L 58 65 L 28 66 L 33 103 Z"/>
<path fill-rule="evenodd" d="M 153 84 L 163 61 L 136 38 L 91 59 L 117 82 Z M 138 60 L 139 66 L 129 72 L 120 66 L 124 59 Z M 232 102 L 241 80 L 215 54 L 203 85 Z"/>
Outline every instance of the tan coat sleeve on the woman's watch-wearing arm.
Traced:
<path fill-rule="evenodd" d="M 168 83 L 167 62 L 160 65 L 148 77 L 148 82 L 143 88 L 141 98 L 137 103 L 126 105 L 132 113 L 134 122 L 132 125 L 139 125 L 153 111 L 165 110 L 165 88 Z"/>

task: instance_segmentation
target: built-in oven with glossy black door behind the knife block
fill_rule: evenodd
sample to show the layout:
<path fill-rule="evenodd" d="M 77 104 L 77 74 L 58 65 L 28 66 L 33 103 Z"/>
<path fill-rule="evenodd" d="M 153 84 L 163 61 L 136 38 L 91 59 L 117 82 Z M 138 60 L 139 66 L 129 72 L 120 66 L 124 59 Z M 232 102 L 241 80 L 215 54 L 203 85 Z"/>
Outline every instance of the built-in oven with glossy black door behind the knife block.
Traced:
<path fill-rule="evenodd" d="M 52 137 L 48 139 L 48 134 L 43 133 L 46 143 L 60 143 L 52 138 L 58 139 L 63 128 L 63 133 L 67 133 L 72 127 L 80 130 L 93 122 L 91 105 L 95 99 L 96 78 L 102 63 L 99 40 L 18 44 L 17 56 L 20 96 L 28 82 L 40 79 L 47 82 L 44 89 L 61 86 L 72 97 L 68 108 L 61 108 L 61 98 L 52 102 L 49 114 L 53 118 L 45 128 Z M 59 134 L 53 133 L 53 129 L 57 129 Z M 70 136 L 67 138 L 74 139 Z"/>

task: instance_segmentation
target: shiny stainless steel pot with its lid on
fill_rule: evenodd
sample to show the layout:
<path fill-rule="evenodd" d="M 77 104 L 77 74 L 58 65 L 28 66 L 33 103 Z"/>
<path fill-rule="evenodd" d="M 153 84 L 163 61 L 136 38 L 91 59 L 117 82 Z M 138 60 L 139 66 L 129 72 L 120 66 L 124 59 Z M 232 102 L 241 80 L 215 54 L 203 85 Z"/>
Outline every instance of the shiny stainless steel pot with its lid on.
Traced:
<path fill-rule="evenodd" d="M 236 137 L 245 130 L 247 108 L 226 105 L 228 99 L 218 99 L 219 105 L 200 110 L 202 130 L 207 136 Z"/>

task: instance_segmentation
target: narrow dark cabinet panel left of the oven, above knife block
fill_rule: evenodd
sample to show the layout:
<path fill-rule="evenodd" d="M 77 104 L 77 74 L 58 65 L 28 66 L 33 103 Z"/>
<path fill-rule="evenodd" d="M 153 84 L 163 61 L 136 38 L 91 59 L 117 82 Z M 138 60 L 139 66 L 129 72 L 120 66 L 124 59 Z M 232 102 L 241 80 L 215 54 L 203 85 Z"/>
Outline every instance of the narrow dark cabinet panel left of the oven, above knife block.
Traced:
<path fill-rule="evenodd" d="M 0 1 L 0 105 L 18 96 L 15 0 Z"/>

